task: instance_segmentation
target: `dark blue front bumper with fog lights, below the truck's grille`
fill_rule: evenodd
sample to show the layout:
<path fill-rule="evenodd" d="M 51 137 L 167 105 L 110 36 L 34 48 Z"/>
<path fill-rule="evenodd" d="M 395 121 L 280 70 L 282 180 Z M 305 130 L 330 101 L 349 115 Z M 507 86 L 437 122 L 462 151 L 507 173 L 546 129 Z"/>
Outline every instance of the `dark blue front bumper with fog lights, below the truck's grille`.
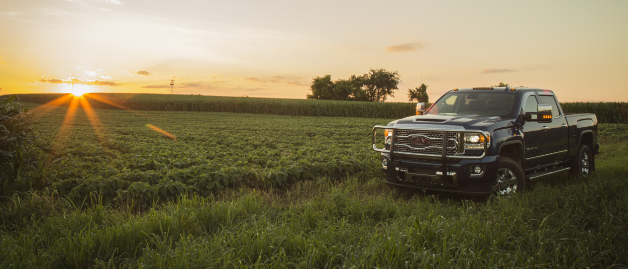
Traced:
<path fill-rule="evenodd" d="M 461 195 L 490 195 L 495 186 L 499 155 L 484 156 L 477 160 L 449 160 L 443 175 L 441 162 L 396 156 L 391 161 L 389 153 L 381 153 L 387 165 L 382 169 L 386 184 L 398 187 L 453 192 Z M 472 167 L 482 167 L 479 174 Z"/>

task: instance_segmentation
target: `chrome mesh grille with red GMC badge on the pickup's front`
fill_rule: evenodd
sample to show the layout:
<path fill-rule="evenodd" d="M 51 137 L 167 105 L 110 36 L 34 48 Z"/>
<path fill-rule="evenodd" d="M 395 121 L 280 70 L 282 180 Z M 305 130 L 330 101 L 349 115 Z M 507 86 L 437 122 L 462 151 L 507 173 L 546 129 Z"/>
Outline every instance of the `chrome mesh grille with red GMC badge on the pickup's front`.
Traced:
<path fill-rule="evenodd" d="M 394 151 L 399 153 L 420 153 L 420 154 L 443 154 L 443 135 L 442 131 L 413 131 L 399 129 L 395 132 Z M 408 137 L 400 137 L 408 136 Z M 458 153 L 458 132 L 448 132 L 447 155 L 456 155 Z M 436 145 L 417 145 L 412 143 L 413 137 L 429 138 L 431 143 Z"/>

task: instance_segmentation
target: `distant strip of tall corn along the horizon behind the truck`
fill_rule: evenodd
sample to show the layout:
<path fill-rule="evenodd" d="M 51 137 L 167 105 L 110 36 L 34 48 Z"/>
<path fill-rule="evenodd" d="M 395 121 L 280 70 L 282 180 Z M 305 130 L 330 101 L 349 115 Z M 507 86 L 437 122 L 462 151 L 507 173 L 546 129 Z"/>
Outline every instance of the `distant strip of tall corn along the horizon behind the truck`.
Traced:
<path fill-rule="evenodd" d="M 19 94 L 22 102 L 45 104 L 65 94 Z M 325 116 L 354 118 L 405 118 L 415 113 L 411 102 L 352 102 L 257 97 L 194 96 L 172 94 L 90 94 L 119 106 L 148 111 L 208 111 L 288 116 Z M 62 106 L 68 106 L 67 101 Z M 97 99 L 95 108 L 119 109 Z M 594 113 L 599 123 L 628 123 L 627 102 L 561 102 L 565 113 Z M 428 104 L 429 106 L 429 104 Z"/>

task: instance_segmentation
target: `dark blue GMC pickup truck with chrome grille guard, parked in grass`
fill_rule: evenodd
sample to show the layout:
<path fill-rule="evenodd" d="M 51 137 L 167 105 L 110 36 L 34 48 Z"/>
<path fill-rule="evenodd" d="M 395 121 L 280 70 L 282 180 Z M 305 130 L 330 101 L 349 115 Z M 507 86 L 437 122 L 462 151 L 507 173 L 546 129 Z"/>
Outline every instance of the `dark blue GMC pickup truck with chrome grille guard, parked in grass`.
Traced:
<path fill-rule="evenodd" d="M 595 114 L 566 114 L 552 91 L 453 89 L 416 116 L 373 128 L 386 183 L 490 195 L 522 192 L 530 180 L 595 170 Z M 446 141 L 446 142 L 445 142 Z"/>

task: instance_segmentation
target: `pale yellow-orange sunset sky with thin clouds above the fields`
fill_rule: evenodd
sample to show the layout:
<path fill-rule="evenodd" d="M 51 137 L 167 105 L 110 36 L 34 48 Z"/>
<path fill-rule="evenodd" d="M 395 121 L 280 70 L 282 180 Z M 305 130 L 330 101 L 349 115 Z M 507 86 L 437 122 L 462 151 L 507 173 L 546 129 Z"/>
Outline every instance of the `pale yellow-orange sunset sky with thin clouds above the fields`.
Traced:
<path fill-rule="evenodd" d="M 624 0 L 3 0 L 0 94 L 303 99 L 313 77 L 386 69 L 401 77 L 392 102 L 422 82 L 430 101 L 505 82 L 628 102 L 627 12 Z"/>

